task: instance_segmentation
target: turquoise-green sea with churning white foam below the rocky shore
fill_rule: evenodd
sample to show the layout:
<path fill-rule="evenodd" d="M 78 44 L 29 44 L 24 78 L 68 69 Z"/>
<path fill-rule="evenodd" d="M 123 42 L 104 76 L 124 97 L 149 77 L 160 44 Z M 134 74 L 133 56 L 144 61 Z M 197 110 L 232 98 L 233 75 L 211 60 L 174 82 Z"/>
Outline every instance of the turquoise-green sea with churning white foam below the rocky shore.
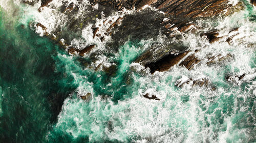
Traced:
<path fill-rule="evenodd" d="M 118 46 L 109 57 L 115 67 L 110 74 L 39 37 L 29 27 L 33 16 L 20 10 L 10 18 L 0 7 L 0 142 L 256 142 L 255 12 L 245 3 L 244 12 L 217 22 L 222 31 L 241 26 L 241 43 L 207 45 L 185 35 L 192 48 L 206 47 L 199 57 L 228 52 L 230 61 L 154 75 L 133 61 L 156 39 Z M 194 39 L 201 43 L 194 46 Z M 240 73 L 250 76 L 225 79 Z M 187 78 L 207 78 L 217 90 L 175 86 Z M 79 96 L 87 93 L 92 97 L 83 101 Z"/>

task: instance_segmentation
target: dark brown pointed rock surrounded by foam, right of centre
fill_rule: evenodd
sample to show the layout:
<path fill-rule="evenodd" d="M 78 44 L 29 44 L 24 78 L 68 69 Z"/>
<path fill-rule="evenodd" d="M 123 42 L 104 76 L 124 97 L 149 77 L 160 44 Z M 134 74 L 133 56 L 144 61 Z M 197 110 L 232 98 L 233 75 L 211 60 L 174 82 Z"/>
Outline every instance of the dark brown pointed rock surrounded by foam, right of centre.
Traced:
<path fill-rule="evenodd" d="M 170 67 L 173 67 L 174 65 L 178 64 L 184 56 L 187 55 L 189 51 L 179 53 L 177 55 L 175 54 L 168 54 L 164 56 L 162 59 L 159 61 L 153 62 L 153 63 L 148 63 L 145 65 L 145 68 L 150 68 L 151 73 L 153 74 L 156 71 L 166 71 Z"/>

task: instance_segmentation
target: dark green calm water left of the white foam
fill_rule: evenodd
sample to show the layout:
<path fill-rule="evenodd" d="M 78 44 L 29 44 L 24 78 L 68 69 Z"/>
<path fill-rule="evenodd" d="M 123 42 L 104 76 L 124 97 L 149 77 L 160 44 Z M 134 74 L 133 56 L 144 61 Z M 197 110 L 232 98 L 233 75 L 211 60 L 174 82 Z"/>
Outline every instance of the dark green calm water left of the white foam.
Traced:
<path fill-rule="evenodd" d="M 1 13 L 0 117 L 1 142 L 45 142 L 63 100 L 76 87 L 59 83 L 53 56 L 58 46 L 37 36 L 29 27 L 7 23 Z M 8 26 L 6 26 L 8 25 Z"/>

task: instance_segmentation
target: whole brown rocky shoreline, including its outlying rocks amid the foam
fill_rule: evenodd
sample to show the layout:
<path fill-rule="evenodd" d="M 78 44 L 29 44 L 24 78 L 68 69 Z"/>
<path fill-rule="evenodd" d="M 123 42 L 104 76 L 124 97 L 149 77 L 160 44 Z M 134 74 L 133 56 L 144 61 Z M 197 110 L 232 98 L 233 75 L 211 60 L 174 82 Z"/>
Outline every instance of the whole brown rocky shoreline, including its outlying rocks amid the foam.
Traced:
<path fill-rule="evenodd" d="M 38 8 L 38 11 L 41 12 L 44 10 L 45 7 L 50 7 L 52 1 L 53 0 L 41 0 L 41 5 Z M 24 0 L 23 2 L 25 4 L 34 5 L 38 1 L 31 2 Z M 80 1 L 78 1 L 78 4 L 79 3 Z M 92 23 L 92 39 L 98 39 L 99 42 L 104 42 L 106 37 L 112 37 L 117 41 L 116 43 L 114 42 L 114 44 L 118 45 L 118 42 L 120 42 L 118 38 L 120 38 L 120 36 L 123 36 L 123 38 L 125 39 L 125 37 L 132 35 L 132 33 L 136 33 L 136 31 L 142 31 L 144 33 L 151 31 L 152 27 L 145 28 L 145 26 L 138 26 L 134 29 L 129 27 L 128 24 L 137 25 L 135 24 L 136 21 L 133 21 L 132 16 L 129 14 L 121 14 L 120 16 L 113 19 L 105 19 L 102 24 L 97 24 L 97 21 L 93 17 L 77 18 L 76 14 L 81 11 L 78 7 L 78 4 L 63 3 L 61 8 L 57 9 L 57 11 L 60 11 L 61 13 L 67 15 L 68 19 L 70 20 L 67 25 L 68 31 L 72 31 L 75 34 L 78 33 L 79 35 L 79 32 L 88 23 Z M 256 1 L 251 0 L 251 4 L 256 6 Z M 201 25 L 198 25 L 197 20 L 202 18 L 209 19 L 218 16 L 224 17 L 227 15 L 231 15 L 234 12 L 241 11 L 245 8 L 242 2 L 238 2 L 237 4 L 230 4 L 230 2 L 227 0 L 90 0 L 90 5 L 88 6 L 88 9 L 93 9 L 96 6 L 96 13 L 98 12 L 100 14 L 101 12 L 104 12 L 104 14 L 108 16 L 108 13 L 110 13 L 110 11 L 117 11 L 123 13 L 123 11 L 125 10 L 130 10 L 134 11 L 133 13 L 140 13 L 140 11 L 143 11 L 146 5 L 151 6 L 155 10 L 149 10 L 150 12 L 148 12 L 148 14 L 152 13 L 152 19 L 145 19 L 144 21 L 152 22 L 153 29 L 161 31 L 167 37 L 167 39 L 179 39 L 182 34 L 193 33 L 196 35 L 200 35 L 201 37 L 206 37 L 209 40 L 210 44 L 224 39 L 228 44 L 232 44 L 233 37 L 238 35 L 239 27 L 231 30 L 228 35 L 219 36 L 219 32 L 216 31 L 214 27 L 212 27 L 212 29 L 207 32 L 200 31 L 203 27 L 200 27 Z M 154 15 L 156 13 L 158 14 Z M 99 14 L 97 14 L 96 17 L 100 18 Z M 143 23 L 141 24 L 143 25 Z M 61 30 L 61 28 L 56 28 L 56 31 L 48 33 L 48 27 L 44 24 L 34 23 L 34 26 L 36 28 L 40 28 L 41 31 L 44 32 L 44 36 L 48 36 L 52 40 L 56 41 L 56 43 L 66 49 L 70 54 L 78 54 L 79 56 L 84 56 L 85 54 L 90 53 L 92 55 L 97 54 L 97 50 L 93 51 L 94 53 L 92 53 L 92 50 L 97 48 L 97 44 L 84 45 L 82 49 L 78 49 L 76 46 L 71 44 L 72 36 L 67 36 L 67 34 L 65 34 L 65 32 Z M 155 34 L 154 31 L 152 31 L 152 33 L 148 35 L 152 34 Z M 145 36 L 145 34 L 143 36 Z M 134 37 L 135 39 L 141 38 L 139 33 L 134 34 Z M 133 37 L 130 36 L 130 38 Z M 111 45 L 111 43 L 106 42 L 106 45 Z M 207 65 L 211 65 L 221 63 L 224 60 L 229 60 L 232 58 L 232 55 L 230 54 L 219 54 L 213 55 L 211 57 L 205 57 L 204 59 L 202 59 L 197 57 L 197 55 L 195 54 L 197 52 L 200 52 L 200 49 L 191 51 L 187 50 L 188 47 L 179 47 L 179 45 L 168 46 L 170 46 L 171 48 L 169 48 L 167 51 L 165 50 L 164 52 L 160 51 L 161 54 L 157 55 L 155 54 L 156 48 L 147 49 L 141 56 L 135 59 L 134 62 L 140 63 L 145 68 L 150 68 L 151 73 L 154 74 L 156 71 L 167 71 L 175 65 L 180 67 L 184 66 L 186 69 L 191 70 L 201 62 L 206 62 Z M 95 59 L 94 62 L 95 61 L 97 61 L 97 59 Z M 115 64 L 114 66 L 109 67 L 99 64 L 95 68 L 95 70 L 99 69 L 108 72 L 113 71 L 115 69 Z M 207 82 L 208 84 L 209 82 L 206 79 L 202 80 L 202 84 L 204 84 L 205 82 Z M 188 81 L 190 81 L 190 79 Z M 191 81 L 199 82 L 199 80 Z M 182 87 L 181 84 L 183 85 L 183 83 L 179 82 L 177 83 L 177 86 Z M 201 81 L 199 86 L 202 87 Z M 144 97 L 149 98 L 148 96 Z"/>

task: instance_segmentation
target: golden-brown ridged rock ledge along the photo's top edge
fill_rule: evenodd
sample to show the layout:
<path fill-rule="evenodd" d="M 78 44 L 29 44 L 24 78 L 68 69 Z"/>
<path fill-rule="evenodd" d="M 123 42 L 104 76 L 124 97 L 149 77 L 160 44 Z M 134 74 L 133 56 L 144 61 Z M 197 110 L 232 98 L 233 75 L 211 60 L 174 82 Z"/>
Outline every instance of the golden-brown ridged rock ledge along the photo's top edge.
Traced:
<path fill-rule="evenodd" d="M 228 0 L 127 0 L 127 1 L 111 1 L 111 0 L 90 0 L 91 3 L 111 6 L 117 10 L 142 9 L 145 5 L 153 6 L 167 15 L 181 17 L 208 17 L 216 16 L 228 10 L 232 5 L 228 4 Z"/>

